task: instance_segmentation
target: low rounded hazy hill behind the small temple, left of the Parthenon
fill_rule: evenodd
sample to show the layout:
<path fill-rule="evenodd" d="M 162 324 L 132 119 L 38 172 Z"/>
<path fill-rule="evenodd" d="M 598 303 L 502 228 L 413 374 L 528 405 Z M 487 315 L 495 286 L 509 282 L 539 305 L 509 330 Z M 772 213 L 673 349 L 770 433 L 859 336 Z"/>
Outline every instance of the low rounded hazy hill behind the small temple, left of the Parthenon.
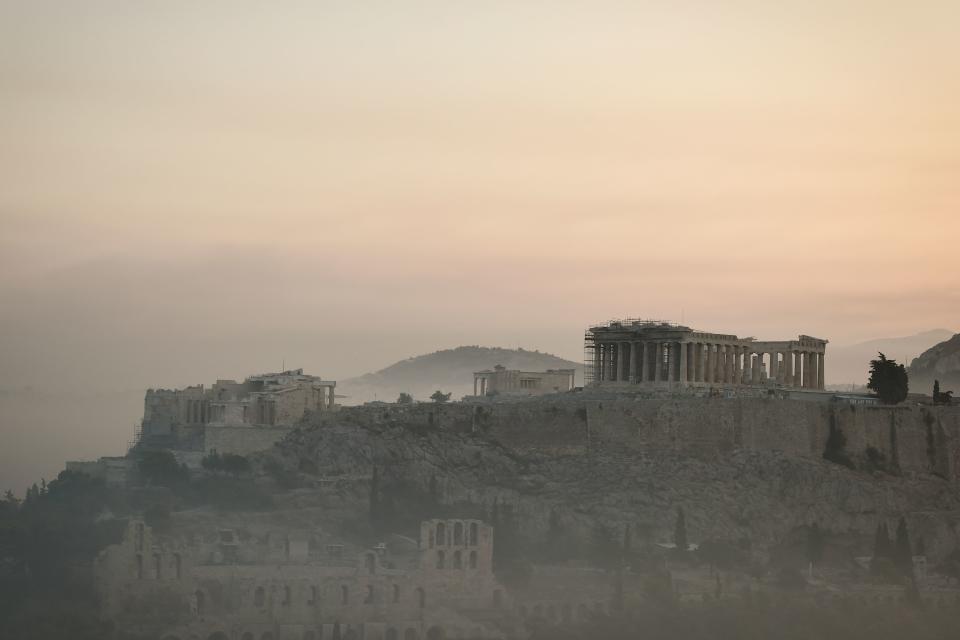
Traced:
<path fill-rule="evenodd" d="M 496 365 L 521 371 L 576 369 L 576 384 L 583 384 L 583 365 L 558 356 L 526 349 L 500 347 L 457 347 L 408 358 L 356 378 L 337 382 L 337 395 L 344 395 L 343 404 L 360 404 L 370 400 L 392 402 L 400 392 L 426 400 L 437 389 L 453 393 L 453 398 L 473 393 L 473 373 Z"/>

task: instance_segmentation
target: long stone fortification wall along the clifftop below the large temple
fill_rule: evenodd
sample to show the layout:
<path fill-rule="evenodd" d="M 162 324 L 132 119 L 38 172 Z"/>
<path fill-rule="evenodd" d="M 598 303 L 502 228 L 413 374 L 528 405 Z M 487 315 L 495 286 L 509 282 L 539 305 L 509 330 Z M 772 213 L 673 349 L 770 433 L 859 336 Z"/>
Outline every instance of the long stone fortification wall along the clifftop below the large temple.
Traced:
<path fill-rule="evenodd" d="M 672 451 L 722 456 L 735 449 L 820 458 L 831 429 L 859 467 L 903 473 L 960 474 L 960 408 L 870 406 L 772 395 L 708 397 L 569 393 L 524 400 L 366 405 L 337 421 L 485 433 L 527 453 L 591 450 Z"/>

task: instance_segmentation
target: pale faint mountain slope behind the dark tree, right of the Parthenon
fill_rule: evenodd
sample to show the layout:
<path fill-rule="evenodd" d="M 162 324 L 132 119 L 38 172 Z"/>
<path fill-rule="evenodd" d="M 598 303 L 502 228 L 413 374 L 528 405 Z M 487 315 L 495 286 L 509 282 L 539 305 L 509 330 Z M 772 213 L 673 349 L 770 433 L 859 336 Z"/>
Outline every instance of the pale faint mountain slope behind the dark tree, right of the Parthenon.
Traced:
<path fill-rule="evenodd" d="M 902 338 L 879 338 L 858 344 L 827 347 L 826 379 L 830 385 L 866 384 L 870 361 L 883 352 L 888 358 L 908 364 L 933 345 L 948 340 L 953 331 L 933 329 Z"/>

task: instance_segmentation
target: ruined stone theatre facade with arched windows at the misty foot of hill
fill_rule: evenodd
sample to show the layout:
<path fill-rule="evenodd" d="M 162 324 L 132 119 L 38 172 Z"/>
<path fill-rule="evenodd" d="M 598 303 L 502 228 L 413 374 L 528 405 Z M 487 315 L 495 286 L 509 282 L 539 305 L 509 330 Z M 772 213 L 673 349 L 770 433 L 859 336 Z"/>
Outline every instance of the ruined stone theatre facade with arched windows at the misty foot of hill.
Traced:
<path fill-rule="evenodd" d="M 429 520 L 371 549 L 310 532 L 220 529 L 192 540 L 143 521 L 95 562 L 104 619 L 161 640 L 441 640 L 513 636 L 511 619 L 586 617 L 606 601 L 515 601 L 493 575 L 493 529 Z M 161 612 L 151 618 L 145 612 Z M 504 621 L 508 629 L 504 631 Z"/>

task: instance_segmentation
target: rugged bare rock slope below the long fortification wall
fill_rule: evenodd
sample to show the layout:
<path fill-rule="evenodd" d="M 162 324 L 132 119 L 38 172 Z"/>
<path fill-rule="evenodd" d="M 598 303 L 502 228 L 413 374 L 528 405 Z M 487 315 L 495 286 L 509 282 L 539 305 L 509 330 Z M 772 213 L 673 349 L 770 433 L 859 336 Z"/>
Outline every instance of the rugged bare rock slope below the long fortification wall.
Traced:
<path fill-rule="evenodd" d="M 935 465 L 909 473 L 895 465 L 883 470 L 882 464 L 866 462 L 852 469 L 819 454 L 800 455 L 789 443 L 778 447 L 774 441 L 756 446 L 741 441 L 719 448 L 685 447 L 679 442 L 648 446 L 652 439 L 644 440 L 644 434 L 652 438 L 651 429 L 661 430 L 664 442 L 690 437 L 664 417 L 671 411 L 682 416 L 684 402 L 668 401 L 658 407 L 659 426 L 632 427 L 633 444 L 627 440 L 629 429 L 605 427 L 603 437 L 596 408 L 593 418 L 589 411 L 573 409 L 571 415 L 595 423 L 589 446 L 574 446 L 572 440 L 562 444 L 559 431 L 548 428 L 542 432 L 544 446 L 532 446 L 533 418 L 528 424 L 501 419 L 496 428 L 475 423 L 475 428 L 457 429 L 454 422 L 445 426 L 441 419 L 431 423 L 391 410 L 373 419 L 346 409 L 333 419 L 326 416 L 304 425 L 270 455 L 282 459 L 286 468 L 299 470 L 304 482 L 317 478 L 351 482 L 358 500 L 366 494 L 356 489 L 357 483 L 366 487 L 378 483 L 379 492 L 395 500 L 395 509 L 416 511 L 435 501 L 462 515 L 493 517 L 509 510 L 511 525 L 532 547 L 547 544 L 558 532 L 576 546 L 576 541 L 583 544 L 595 537 L 598 528 L 622 533 L 628 524 L 635 540 L 668 542 L 679 507 L 686 512 L 691 541 L 738 542 L 761 554 L 796 544 L 806 528 L 817 523 L 846 556 L 869 555 L 878 522 L 887 519 L 894 526 L 900 516 L 934 562 L 957 547 L 960 496 L 954 482 L 938 475 Z M 736 416 L 754 410 L 753 405 L 742 404 L 717 409 L 718 415 L 733 416 L 733 431 L 738 428 L 734 423 L 743 422 Z M 563 411 L 557 409 L 561 431 Z M 902 429 L 902 441 L 909 440 L 910 427 L 903 426 L 907 421 L 902 416 L 882 422 L 887 425 L 884 438 L 891 430 Z M 576 430 L 582 436 L 587 427 Z M 620 435 L 613 437 L 614 433 Z M 803 432 L 797 440 L 810 437 L 826 436 Z M 872 448 L 869 439 L 864 442 L 857 436 L 851 438 L 854 441 L 857 447 Z M 554 446 L 558 442 L 561 446 Z M 819 452 L 823 445 L 812 446 Z"/>

